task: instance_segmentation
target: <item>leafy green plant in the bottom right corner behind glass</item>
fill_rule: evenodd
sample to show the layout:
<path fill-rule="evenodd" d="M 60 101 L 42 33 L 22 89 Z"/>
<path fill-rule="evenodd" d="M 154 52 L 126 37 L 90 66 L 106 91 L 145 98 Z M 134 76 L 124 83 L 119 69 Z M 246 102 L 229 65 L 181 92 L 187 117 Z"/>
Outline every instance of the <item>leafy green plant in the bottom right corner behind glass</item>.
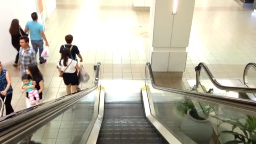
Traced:
<path fill-rule="evenodd" d="M 219 133 L 219 136 L 224 133 L 234 136 L 234 139 L 226 141 L 224 144 L 256 144 L 256 117 L 246 115 L 242 118 L 230 120 L 213 117 L 220 120 L 218 127 L 225 123 L 232 125 L 232 130 L 225 130 Z"/>

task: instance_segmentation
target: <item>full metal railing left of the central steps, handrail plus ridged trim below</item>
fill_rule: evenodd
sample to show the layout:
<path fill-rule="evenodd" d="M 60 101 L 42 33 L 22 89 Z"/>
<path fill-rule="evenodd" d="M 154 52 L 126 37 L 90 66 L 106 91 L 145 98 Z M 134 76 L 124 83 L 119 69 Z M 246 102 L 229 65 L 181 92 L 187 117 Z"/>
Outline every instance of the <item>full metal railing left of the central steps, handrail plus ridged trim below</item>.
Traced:
<path fill-rule="evenodd" d="M 0 118 L 0 143 L 19 139 L 28 131 L 34 131 L 45 125 L 57 115 L 72 107 L 77 101 L 87 94 L 95 91 L 101 79 L 101 63 L 98 62 L 95 74 L 94 86 L 89 89 L 62 96 L 58 99 L 39 104 L 35 107 L 16 112 Z"/>

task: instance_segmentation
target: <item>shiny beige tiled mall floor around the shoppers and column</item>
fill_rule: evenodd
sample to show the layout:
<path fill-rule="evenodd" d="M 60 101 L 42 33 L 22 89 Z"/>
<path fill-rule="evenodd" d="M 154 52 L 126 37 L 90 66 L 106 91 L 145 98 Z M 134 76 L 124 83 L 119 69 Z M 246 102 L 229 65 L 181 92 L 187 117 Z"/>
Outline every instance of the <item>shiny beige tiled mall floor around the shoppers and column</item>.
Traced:
<path fill-rule="evenodd" d="M 46 20 L 46 36 L 51 57 L 40 66 L 45 81 L 44 101 L 65 95 L 65 85 L 58 77 L 56 63 L 64 36 L 72 34 L 73 44 L 83 56 L 83 66 L 91 75 L 93 64 L 100 61 L 104 79 L 143 79 L 147 62 L 147 36 L 143 28 L 149 23 L 149 11 L 132 8 L 133 0 L 57 0 L 57 8 Z M 140 27 L 142 26 L 142 27 Z M 155 72 L 158 85 L 188 89 L 187 79 L 195 78 L 195 66 L 205 62 L 219 78 L 241 78 L 248 62 L 256 60 L 256 17 L 250 8 L 241 8 L 235 0 L 196 0 L 192 21 L 186 71 Z M 19 90 L 20 76 L 11 65 L 15 111 L 26 107 Z"/>

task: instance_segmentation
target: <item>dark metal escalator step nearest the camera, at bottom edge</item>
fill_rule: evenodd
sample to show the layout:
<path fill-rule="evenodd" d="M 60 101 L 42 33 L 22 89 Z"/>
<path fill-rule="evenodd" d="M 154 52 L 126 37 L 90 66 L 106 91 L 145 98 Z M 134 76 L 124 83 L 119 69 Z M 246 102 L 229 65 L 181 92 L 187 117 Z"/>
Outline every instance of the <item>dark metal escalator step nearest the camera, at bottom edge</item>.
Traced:
<path fill-rule="evenodd" d="M 100 138 L 97 144 L 162 144 L 160 138 L 141 138 L 141 139 L 106 139 Z"/>

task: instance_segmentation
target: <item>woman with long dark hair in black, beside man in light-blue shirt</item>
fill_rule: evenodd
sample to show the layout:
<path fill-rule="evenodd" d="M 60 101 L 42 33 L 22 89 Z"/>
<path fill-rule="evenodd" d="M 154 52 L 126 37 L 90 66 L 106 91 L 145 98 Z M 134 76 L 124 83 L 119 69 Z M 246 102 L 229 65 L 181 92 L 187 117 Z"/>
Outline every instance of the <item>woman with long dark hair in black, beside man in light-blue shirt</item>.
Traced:
<path fill-rule="evenodd" d="M 18 19 L 13 19 L 11 21 L 11 27 L 9 29 L 9 32 L 11 34 L 11 44 L 18 51 L 18 53 L 16 55 L 16 59 L 13 64 L 14 67 L 17 67 L 18 61 L 19 61 L 19 48 L 21 47 L 19 45 L 19 39 L 22 36 L 25 36 L 25 35 L 28 36 L 28 35 L 23 31 L 23 29 L 21 29 Z"/>

